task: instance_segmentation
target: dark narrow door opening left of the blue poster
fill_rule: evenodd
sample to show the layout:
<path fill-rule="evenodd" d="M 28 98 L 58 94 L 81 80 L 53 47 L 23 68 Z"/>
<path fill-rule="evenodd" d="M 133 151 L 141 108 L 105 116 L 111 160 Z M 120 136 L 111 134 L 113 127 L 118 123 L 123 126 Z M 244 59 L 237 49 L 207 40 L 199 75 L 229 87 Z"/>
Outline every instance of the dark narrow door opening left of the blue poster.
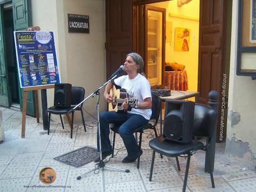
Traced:
<path fill-rule="evenodd" d="M 6 48 L 6 65 L 8 74 L 8 91 L 11 96 L 11 106 L 19 108 L 18 72 L 13 40 L 13 9 L 12 3 L 3 5 L 3 37 Z"/>

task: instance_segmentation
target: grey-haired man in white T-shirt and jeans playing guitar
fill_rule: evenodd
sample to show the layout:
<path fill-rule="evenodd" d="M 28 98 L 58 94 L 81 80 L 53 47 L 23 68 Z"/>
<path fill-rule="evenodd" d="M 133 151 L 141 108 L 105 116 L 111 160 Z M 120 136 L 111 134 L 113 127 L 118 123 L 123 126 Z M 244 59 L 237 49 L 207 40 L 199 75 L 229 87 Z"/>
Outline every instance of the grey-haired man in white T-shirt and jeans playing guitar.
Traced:
<path fill-rule="evenodd" d="M 101 151 L 102 159 L 112 154 L 112 146 L 110 144 L 109 124 L 119 125 L 118 132 L 124 141 L 127 156 L 122 163 L 134 162 L 137 157 L 142 154 L 139 150 L 137 141 L 134 137 L 134 132 L 137 128 L 145 125 L 151 117 L 151 92 L 150 83 L 142 76 L 139 71 L 144 66 L 142 57 L 137 53 L 129 53 L 126 56 L 124 63 L 124 71 L 127 75 L 116 78 L 114 81 L 107 83 L 105 88 L 104 97 L 107 102 L 112 102 L 113 97 L 109 94 L 111 88 L 117 85 L 128 93 L 129 98 L 133 97 L 138 100 L 137 107 L 131 109 L 131 106 L 125 101 L 122 103 L 122 108 L 125 112 L 106 111 L 100 114 L 100 131 L 101 131 Z M 99 133 L 97 137 L 97 147 L 99 147 Z M 99 162 L 100 158 L 95 162 Z"/>

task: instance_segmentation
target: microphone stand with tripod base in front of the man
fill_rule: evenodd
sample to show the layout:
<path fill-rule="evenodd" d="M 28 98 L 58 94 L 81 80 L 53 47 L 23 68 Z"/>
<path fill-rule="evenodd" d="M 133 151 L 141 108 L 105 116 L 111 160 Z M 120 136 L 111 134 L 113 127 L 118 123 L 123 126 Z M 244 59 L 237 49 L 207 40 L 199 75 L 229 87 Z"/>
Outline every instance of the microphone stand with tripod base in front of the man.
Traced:
<path fill-rule="evenodd" d="M 77 180 L 80 180 L 81 178 L 83 178 L 83 176 L 86 176 L 87 174 L 91 173 L 91 172 L 95 172 L 96 170 L 100 170 L 100 169 L 110 169 L 110 170 L 116 170 L 116 171 L 123 171 L 126 173 L 129 173 L 130 170 L 129 169 L 120 169 L 120 168 L 114 168 L 112 166 L 107 166 L 106 163 L 102 160 L 102 151 L 101 151 L 101 131 L 100 131 L 100 89 L 102 87 L 104 87 L 105 85 L 107 85 L 107 83 L 109 83 L 110 81 L 114 80 L 114 78 L 116 78 L 117 75 L 115 75 L 114 77 L 112 77 L 109 81 L 105 82 L 103 85 L 101 85 L 99 88 L 97 88 L 96 91 L 92 92 L 88 97 L 86 97 L 83 101 L 81 101 L 79 104 L 77 104 L 75 107 L 73 107 L 73 109 L 71 109 L 70 111 L 68 111 L 68 113 L 72 112 L 73 110 L 75 110 L 78 106 L 80 106 L 83 102 L 85 102 L 87 99 L 89 99 L 90 97 L 94 97 L 95 95 L 97 95 L 97 121 L 98 121 L 98 132 L 99 132 L 99 147 L 100 147 L 100 162 L 97 163 L 95 165 L 95 168 L 93 168 L 90 171 L 87 171 L 85 174 L 82 174 L 80 176 L 77 176 Z"/>

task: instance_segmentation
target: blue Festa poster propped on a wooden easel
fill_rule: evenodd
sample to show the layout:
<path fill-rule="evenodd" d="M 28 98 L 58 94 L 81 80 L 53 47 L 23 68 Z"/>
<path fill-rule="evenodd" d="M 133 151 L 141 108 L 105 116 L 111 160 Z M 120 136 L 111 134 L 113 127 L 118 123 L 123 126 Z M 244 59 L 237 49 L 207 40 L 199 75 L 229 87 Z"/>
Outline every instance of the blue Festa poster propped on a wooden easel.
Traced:
<path fill-rule="evenodd" d="M 13 33 L 21 88 L 60 83 L 53 32 Z"/>

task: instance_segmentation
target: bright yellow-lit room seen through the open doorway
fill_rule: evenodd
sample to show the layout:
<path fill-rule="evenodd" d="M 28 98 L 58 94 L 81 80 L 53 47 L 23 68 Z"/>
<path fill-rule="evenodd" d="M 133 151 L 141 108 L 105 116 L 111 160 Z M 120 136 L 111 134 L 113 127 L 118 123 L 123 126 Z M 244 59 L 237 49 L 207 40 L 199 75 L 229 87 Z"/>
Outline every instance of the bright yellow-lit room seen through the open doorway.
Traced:
<path fill-rule="evenodd" d="M 166 12 L 161 87 L 198 91 L 200 1 L 190 1 L 183 6 L 176 1 L 150 3 L 145 5 L 147 6 L 165 9 Z M 148 67 L 150 66 L 146 66 Z"/>

